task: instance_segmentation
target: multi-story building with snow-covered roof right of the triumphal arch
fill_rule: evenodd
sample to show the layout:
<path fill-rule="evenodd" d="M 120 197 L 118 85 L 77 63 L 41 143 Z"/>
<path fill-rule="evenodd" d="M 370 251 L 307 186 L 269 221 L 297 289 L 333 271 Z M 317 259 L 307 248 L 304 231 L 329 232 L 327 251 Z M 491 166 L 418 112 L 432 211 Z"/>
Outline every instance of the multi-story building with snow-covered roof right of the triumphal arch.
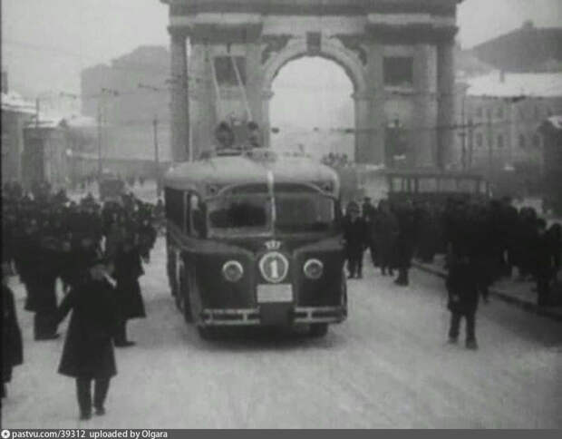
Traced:
<path fill-rule="evenodd" d="M 537 180 L 543 153 L 538 128 L 562 112 L 562 73 L 494 72 L 466 79 L 460 90 L 457 167 L 464 162 L 490 180 L 502 171 Z"/>

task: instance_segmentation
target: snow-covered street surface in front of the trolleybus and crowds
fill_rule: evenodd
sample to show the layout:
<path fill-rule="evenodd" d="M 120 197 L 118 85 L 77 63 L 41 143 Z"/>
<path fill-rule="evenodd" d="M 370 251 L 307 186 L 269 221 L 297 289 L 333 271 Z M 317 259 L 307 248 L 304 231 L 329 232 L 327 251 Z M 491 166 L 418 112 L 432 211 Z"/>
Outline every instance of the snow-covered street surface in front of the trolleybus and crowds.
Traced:
<path fill-rule="evenodd" d="M 130 324 L 138 345 L 116 351 L 107 415 L 88 422 L 78 421 L 73 380 L 56 373 L 63 338 L 33 340 L 13 283 L 25 362 L 3 427 L 562 427 L 554 321 L 492 302 L 480 307 L 480 350 L 448 346 L 441 279 L 414 270 L 402 289 L 368 267 L 350 281 L 349 319 L 325 338 L 257 331 L 206 342 L 169 296 L 162 239 L 146 271 L 148 317 Z"/>

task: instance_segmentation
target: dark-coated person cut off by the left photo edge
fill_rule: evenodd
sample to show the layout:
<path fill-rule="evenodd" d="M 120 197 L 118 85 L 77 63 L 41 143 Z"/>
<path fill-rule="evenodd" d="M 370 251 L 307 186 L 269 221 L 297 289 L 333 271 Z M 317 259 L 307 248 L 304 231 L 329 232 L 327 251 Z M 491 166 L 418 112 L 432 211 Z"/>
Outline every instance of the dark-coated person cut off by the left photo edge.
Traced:
<path fill-rule="evenodd" d="M 2 262 L 2 397 L 6 395 L 5 383 L 12 380 L 12 369 L 24 363 L 22 332 L 17 323 L 14 294 L 7 286 L 9 267 Z"/>

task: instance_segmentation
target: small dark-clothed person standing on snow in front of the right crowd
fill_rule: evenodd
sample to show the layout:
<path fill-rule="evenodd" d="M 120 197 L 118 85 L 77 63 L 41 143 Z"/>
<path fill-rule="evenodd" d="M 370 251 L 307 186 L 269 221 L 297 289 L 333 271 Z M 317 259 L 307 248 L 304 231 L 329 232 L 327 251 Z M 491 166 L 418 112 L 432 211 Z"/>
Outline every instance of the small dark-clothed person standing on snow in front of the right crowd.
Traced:
<path fill-rule="evenodd" d="M 479 301 L 479 286 L 476 269 L 467 256 L 453 255 L 449 263 L 446 281 L 449 293 L 451 327 L 449 342 L 457 343 L 460 332 L 460 319 L 466 319 L 466 347 L 477 349 L 475 326 L 476 310 Z"/>

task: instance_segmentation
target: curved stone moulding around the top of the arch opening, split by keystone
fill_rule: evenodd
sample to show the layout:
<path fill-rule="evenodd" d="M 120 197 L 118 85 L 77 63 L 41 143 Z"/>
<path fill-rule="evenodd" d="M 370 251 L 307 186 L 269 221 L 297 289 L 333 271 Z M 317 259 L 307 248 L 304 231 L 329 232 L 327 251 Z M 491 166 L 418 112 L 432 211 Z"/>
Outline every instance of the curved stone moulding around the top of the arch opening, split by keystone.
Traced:
<path fill-rule="evenodd" d="M 263 88 L 271 89 L 271 84 L 277 73 L 286 63 L 310 54 L 305 38 L 294 38 L 276 54 L 273 54 L 262 66 Z M 365 69 L 362 61 L 352 50 L 347 49 L 344 44 L 334 38 L 323 38 L 320 51 L 315 56 L 334 61 L 344 68 L 354 84 L 354 93 L 364 94 L 367 92 Z"/>

